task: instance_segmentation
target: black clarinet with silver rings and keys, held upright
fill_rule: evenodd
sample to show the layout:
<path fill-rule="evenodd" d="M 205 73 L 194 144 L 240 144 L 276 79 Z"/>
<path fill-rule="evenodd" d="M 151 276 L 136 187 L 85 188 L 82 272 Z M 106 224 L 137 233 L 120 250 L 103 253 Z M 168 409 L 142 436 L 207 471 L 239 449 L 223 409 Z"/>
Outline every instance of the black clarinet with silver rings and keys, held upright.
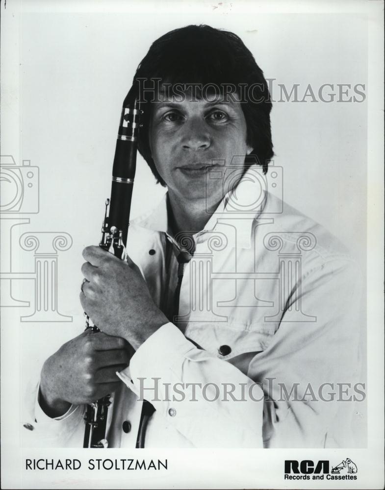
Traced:
<path fill-rule="evenodd" d="M 105 214 L 102 225 L 102 239 L 99 244 L 122 260 L 126 260 L 129 211 L 131 207 L 132 187 L 136 168 L 137 137 L 140 116 L 138 94 L 132 86 L 124 99 L 122 115 L 116 141 L 114 164 L 112 169 L 111 197 L 105 202 Z M 85 313 L 86 330 L 91 333 L 101 330 Z M 87 405 L 84 415 L 85 432 L 83 447 L 108 447 L 106 425 L 110 395 Z"/>

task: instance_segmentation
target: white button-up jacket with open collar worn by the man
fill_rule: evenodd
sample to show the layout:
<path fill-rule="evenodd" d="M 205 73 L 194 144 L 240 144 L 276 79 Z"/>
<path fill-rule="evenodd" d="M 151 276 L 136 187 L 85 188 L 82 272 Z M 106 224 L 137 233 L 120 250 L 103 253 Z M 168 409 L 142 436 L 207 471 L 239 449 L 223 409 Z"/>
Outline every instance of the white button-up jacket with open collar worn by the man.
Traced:
<path fill-rule="evenodd" d="M 352 446 L 355 400 L 364 397 L 362 386 L 355 391 L 359 269 L 324 228 L 277 197 L 247 205 L 253 192 L 224 199 L 194 236 L 178 327 L 162 326 L 119 373 L 109 447 L 135 447 L 141 387 L 156 409 L 146 447 Z M 158 305 L 166 231 L 166 199 L 129 229 L 129 256 Z M 37 389 L 29 387 L 34 409 L 23 423 L 33 430 L 24 444 L 82 447 L 84 407 L 51 419 Z"/>

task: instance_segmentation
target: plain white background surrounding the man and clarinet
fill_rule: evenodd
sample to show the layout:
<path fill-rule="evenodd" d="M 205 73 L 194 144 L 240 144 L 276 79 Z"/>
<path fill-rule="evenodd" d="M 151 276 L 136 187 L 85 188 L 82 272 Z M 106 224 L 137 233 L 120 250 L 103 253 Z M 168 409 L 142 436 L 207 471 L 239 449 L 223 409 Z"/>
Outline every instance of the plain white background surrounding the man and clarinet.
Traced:
<path fill-rule="evenodd" d="M 326 2 L 252 4 L 235 1 L 221 4 L 158 2 L 156 6 L 146 1 L 110 2 L 108 5 L 96 1 L 26 1 L 23 2 L 23 8 L 20 5 L 19 2 L 8 0 L 4 8 L 4 2 L 1 2 L 1 154 L 12 154 L 19 165 L 23 159 L 31 160 L 31 165 L 40 169 L 40 212 L 30 216 L 31 224 L 26 225 L 23 232 L 67 232 L 74 240 L 72 248 L 59 256 L 58 296 L 60 313 L 73 316 L 74 321 L 23 324 L 19 321 L 20 315 L 28 314 L 28 311 L 6 310 L 2 348 L 5 341 L 8 352 L 14 349 L 12 359 L 15 364 L 11 369 L 14 374 L 12 380 L 4 382 L 2 377 L 3 383 L 8 382 L 2 389 L 5 388 L 5 393 L 9 393 L 12 386 L 13 393 L 9 396 L 11 400 L 15 399 L 14 393 L 17 392 L 22 405 L 23 390 L 31 371 L 39 369 L 44 359 L 52 353 L 52 344 L 56 343 L 58 347 L 83 328 L 78 302 L 80 265 L 83 262 L 81 250 L 85 245 L 99 241 L 103 203 L 110 192 L 121 105 L 135 69 L 151 43 L 173 28 L 208 24 L 238 34 L 255 55 L 265 77 L 276 79 L 272 93 L 274 100 L 280 98 L 278 83 L 285 84 L 289 92 L 294 83 L 299 83 L 300 99 L 308 84 L 311 84 L 317 98 L 318 88 L 322 84 L 334 84 L 336 99 L 336 84 L 346 83 L 352 87 L 358 83 L 365 84 L 367 99 L 362 103 L 310 102 L 310 98 L 302 103 L 276 102 L 273 103 L 271 116 L 276 153 L 274 161 L 276 166 L 283 167 L 284 200 L 338 236 L 351 249 L 365 273 L 367 216 L 370 217 L 368 224 L 371 231 L 374 231 L 373 224 L 381 222 L 377 221 L 378 215 L 373 214 L 376 208 L 370 207 L 373 199 L 376 202 L 378 198 L 378 184 L 382 179 L 382 172 L 377 177 L 376 173 L 370 173 L 376 172 L 379 164 L 376 155 L 372 154 L 378 143 L 375 134 L 378 123 L 375 120 L 368 128 L 367 119 L 368 114 L 372 121 L 378 117 L 379 111 L 376 109 L 381 105 L 374 89 L 375 84 L 368 85 L 367 70 L 368 49 L 377 65 L 381 59 L 381 53 L 376 53 L 380 45 L 370 44 L 380 25 L 381 3 L 371 2 L 369 6 L 364 1 L 338 2 L 338 8 L 335 3 Z M 372 18 L 368 23 L 365 12 L 369 9 Z M 369 41 L 368 25 L 372 36 Z M 370 73 L 373 76 L 373 69 L 369 76 Z M 353 91 L 350 95 L 354 95 Z M 368 162 L 371 167 L 368 167 Z M 367 170 L 368 176 L 371 176 L 369 186 L 366 181 Z M 147 164 L 139 156 L 132 216 L 154 206 L 163 192 L 162 188 L 155 185 Z M 375 269 L 371 269 L 370 262 L 376 253 L 375 243 L 373 239 L 369 240 L 370 280 L 375 279 Z M 33 270 L 33 258 L 27 252 L 22 252 L 18 260 L 20 270 Z M 19 284 L 19 297 L 33 301 L 30 284 L 25 283 L 21 281 Z M 369 300 L 373 300 L 373 295 Z M 369 319 L 369 325 L 372 327 L 372 335 L 373 332 L 375 334 L 376 328 L 379 329 L 378 319 Z M 369 348 L 374 345 L 381 347 L 380 339 L 382 333 L 377 337 L 369 336 Z M 370 354 L 372 361 L 376 351 L 373 349 Z M 4 368 L 8 373 L 9 365 L 3 362 L 3 373 Z M 370 373 L 369 367 L 369 380 Z M 378 368 L 376 374 L 379 375 Z M 13 384 L 9 385 L 10 381 Z M 381 380 L 376 385 L 382 386 Z M 375 393 L 372 392 L 372 396 L 374 400 Z M 381 403 L 375 406 L 381 409 Z M 7 460 L 7 482 L 9 485 L 13 482 L 13 488 L 16 488 L 22 484 L 16 477 L 21 468 L 19 435 L 22 415 L 18 414 L 19 407 L 13 406 L 13 409 L 13 417 L 6 419 L 12 430 L 4 434 L 2 426 L 2 444 L 3 452 L 5 446 L 14 448 L 13 453 L 8 453 L 13 455 L 13 459 Z M 9 416 L 10 405 L 6 403 L 2 417 Z M 373 439 L 374 434 L 378 434 L 378 425 L 374 432 L 369 427 L 370 447 L 378 443 L 378 439 Z M 252 470 L 243 473 L 239 480 L 235 478 L 234 466 L 234 479 L 229 480 L 229 474 L 223 473 L 222 476 L 227 474 L 224 479 L 227 483 L 222 482 L 222 486 L 282 486 L 282 461 L 285 458 L 282 454 L 275 463 L 271 456 L 273 452 L 275 457 L 279 451 L 269 451 L 271 464 L 278 465 L 276 480 L 272 480 L 272 475 L 266 473 L 266 463 L 258 464 L 257 473 Z M 194 460 L 201 468 L 204 457 L 201 459 L 199 453 L 194 453 L 189 461 Z M 303 459 L 309 457 L 315 460 L 315 453 L 319 452 L 305 453 Z M 255 459 L 250 452 L 234 452 L 231 458 L 239 454 L 243 455 L 240 456 L 243 463 L 248 462 L 247 467 L 251 468 Z M 357 454 L 357 461 L 353 454 Z M 359 459 L 359 454 L 351 451 L 348 456 L 345 452 L 337 452 L 334 457 L 338 462 L 350 457 L 362 467 L 363 475 L 365 465 L 364 460 Z M 375 454 L 379 456 L 378 452 Z M 78 457 L 75 451 L 66 455 Z M 208 458 L 207 461 L 213 465 L 211 456 L 209 453 L 205 460 Z M 265 457 L 267 455 L 261 456 L 258 453 L 259 461 Z M 252 458 L 251 462 L 249 458 Z M 294 458 L 293 453 L 290 453 L 290 458 Z M 322 458 L 332 458 L 332 455 L 323 455 Z M 359 465 L 358 461 L 362 463 Z M 209 465 L 207 471 L 210 467 L 216 478 L 213 481 L 219 487 L 221 473 L 215 474 L 214 466 Z M 181 466 L 178 468 L 182 469 Z M 366 470 L 368 478 L 375 477 L 369 467 Z M 56 473 L 50 478 L 58 478 Z M 192 478 L 194 474 L 192 471 Z M 170 477 L 171 472 L 168 475 Z M 175 478 L 177 475 L 178 471 Z M 94 478 L 97 476 L 92 475 Z M 38 477 L 48 481 L 47 473 Z M 118 474 L 114 477 L 123 478 Z M 24 488 L 37 488 L 33 486 L 36 475 L 24 475 L 24 478 Z M 90 475 L 87 478 L 89 480 Z M 360 480 L 361 488 L 364 481 L 369 481 L 364 480 L 363 476 Z M 198 482 L 197 479 L 195 481 Z M 208 485 L 206 481 L 210 480 L 205 480 L 205 485 Z M 168 484 L 168 480 L 167 483 L 165 480 L 165 484 L 158 482 L 159 486 Z M 127 480 L 125 485 L 127 488 L 131 486 Z M 132 482 L 132 486 L 135 485 L 138 483 Z M 293 485 L 298 488 L 298 482 Z M 185 482 L 185 486 L 188 488 L 188 482 Z M 341 484 L 341 488 L 354 486 L 350 482 L 347 487 Z M 71 487 L 68 486 L 75 487 L 75 482 L 71 483 Z"/>

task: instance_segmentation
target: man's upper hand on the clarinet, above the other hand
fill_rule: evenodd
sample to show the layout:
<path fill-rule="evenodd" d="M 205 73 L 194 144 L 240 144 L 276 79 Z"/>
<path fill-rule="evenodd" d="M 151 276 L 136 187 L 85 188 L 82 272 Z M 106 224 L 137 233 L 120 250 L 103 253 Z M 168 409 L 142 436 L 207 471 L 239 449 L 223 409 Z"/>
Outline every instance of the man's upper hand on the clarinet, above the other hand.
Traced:
<path fill-rule="evenodd" d="M 84 311 L 103 332 L 122 337 L 136 350 L 159 327 L 168 322 L 155 305 L 138 267 L 118 259 L 99 246 L 83 250 L 87 262 L 81 271 Z"/>

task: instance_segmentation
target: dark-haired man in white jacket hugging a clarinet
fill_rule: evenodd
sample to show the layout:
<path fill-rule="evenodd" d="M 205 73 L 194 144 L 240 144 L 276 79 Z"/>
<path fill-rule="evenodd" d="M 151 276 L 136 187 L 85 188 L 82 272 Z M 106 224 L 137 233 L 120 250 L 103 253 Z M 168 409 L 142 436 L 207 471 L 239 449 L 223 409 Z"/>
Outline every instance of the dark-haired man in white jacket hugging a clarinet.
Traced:
<path fill-rule="evenodd" d="M 139 150 L 168 192 L 130 226 L 127 263 L 84 249 L 80 301 L 103 333 L 45 362 L 30 436 L 81 447 L 84 405 L 112 393 L 110 447 L 135 447 L 143 398 L 145 447 L 351 445 L 353 402 L 332 392 L 356 381 L 359 271 L 261 192 L 271 102 L 253 55 L 192 25 L 155 41 L 134 83 Z"/>

